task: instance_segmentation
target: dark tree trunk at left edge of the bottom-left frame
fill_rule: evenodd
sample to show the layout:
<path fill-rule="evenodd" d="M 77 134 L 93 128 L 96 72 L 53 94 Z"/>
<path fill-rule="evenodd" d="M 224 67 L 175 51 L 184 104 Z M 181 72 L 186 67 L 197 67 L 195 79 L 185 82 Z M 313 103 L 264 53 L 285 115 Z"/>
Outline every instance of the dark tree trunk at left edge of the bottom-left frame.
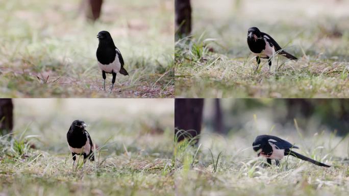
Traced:
<path fill-rule="evenodd" d="M 11 99 L 0 99 L 0 135 L 8 134 L 13 128 L 13 104 Z"/>

